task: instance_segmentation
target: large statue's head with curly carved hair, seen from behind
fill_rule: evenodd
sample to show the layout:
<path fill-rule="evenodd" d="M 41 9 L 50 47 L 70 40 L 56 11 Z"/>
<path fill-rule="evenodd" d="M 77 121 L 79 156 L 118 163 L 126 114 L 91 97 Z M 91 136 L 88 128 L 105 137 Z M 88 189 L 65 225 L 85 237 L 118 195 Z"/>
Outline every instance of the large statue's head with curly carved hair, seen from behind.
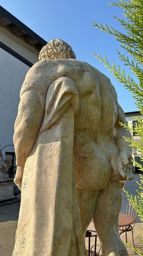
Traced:
<path fill-rule="evenodd" d="M 72 48 L 61 39 L 53 39 L 45 45 L 39 54 L 39 60 L 76 59 Z"/>

